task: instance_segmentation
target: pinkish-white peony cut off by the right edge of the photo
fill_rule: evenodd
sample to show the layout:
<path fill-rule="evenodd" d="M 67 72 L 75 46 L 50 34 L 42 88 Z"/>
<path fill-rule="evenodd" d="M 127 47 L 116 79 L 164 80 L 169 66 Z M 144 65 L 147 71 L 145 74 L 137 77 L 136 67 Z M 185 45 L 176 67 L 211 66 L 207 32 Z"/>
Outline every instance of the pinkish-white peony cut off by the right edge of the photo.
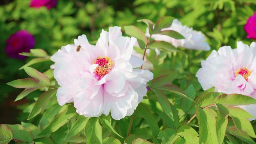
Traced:
<path fill-rule="evenodd" d="M 250 47 L 237 42 L 237 49 L 230 46 L 213 50 L 201 61 L 202 68 L 196 73 L 204 90 L 215 87 L 217 92 L 242 94 L 256 99 L 256 43 Z M 256 105 L 242 105 L 256 119 Z M 253 119 L 251 119 L 253 120 Z"/>

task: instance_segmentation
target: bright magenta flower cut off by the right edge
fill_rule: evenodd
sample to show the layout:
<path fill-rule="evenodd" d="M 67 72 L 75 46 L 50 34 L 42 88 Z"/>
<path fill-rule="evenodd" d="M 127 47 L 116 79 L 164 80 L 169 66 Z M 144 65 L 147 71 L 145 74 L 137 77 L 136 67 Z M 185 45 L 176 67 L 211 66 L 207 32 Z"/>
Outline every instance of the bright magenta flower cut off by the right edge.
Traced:
<path fill-rule="evenodd" d="M 248 34 L 248 39 L 256 39 L 256 12 L 247 20 L 246 25 L 244 25 L 244 30 Z"/>

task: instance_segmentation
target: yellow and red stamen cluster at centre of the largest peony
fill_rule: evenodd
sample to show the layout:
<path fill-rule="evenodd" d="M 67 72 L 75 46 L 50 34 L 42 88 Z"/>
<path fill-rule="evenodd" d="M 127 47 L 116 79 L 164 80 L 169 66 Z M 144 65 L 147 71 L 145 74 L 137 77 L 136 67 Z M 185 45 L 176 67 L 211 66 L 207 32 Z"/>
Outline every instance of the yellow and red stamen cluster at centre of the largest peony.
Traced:
<path fill-rule="evenodd" d="M 92 64 L 99 64 L 98 67 L 95 68 L 94 72 L 98 76 L 105 76 L 106 74 L 109 73 L 110 70 L 112 70 L 112 66 L 114 62 L 112 61 L 111 58 L 104 56 L 101 58 L 101 56 L 98 56 Z"/>

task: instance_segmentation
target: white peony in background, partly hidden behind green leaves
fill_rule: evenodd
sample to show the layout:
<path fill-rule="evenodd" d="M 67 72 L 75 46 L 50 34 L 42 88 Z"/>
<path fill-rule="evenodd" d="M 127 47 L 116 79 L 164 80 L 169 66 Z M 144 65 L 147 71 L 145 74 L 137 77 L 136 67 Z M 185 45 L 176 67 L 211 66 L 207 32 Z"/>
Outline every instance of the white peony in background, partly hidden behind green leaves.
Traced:
<path fill-rule="evenodd" d="M 171 43 L 173 46 L 177 47 L 184 47 L 187 49 L 197 49 L 197 50 L 210 50 L 210 46 L 207 42 L 205 42 L 205 36 L 202 34 L 201 31 L 195 31 L 193 28 L 189 28 L 186 25 L 182 25 L 182 23 L 178 19 L 174 19 L 173 23 L 169 28 L 164 28 L 162 31 L 165 30 L 174 30 L 178 33 L 182 34 L 185 39 L 174 39 L 169 36 L 165 36 L 162 34 L 153 34 L 152 38 L 154 40 L 165 41 Z M 146 30 L 146 36 L 149 37 L 149 30 Z"/>

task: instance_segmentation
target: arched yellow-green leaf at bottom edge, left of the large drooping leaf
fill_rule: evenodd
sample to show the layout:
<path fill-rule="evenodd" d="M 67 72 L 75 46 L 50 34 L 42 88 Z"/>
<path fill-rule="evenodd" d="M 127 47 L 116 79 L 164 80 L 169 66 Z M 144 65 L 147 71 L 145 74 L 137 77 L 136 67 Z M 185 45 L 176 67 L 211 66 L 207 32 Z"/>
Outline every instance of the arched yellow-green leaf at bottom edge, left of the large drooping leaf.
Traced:
<path fill-rule="evenodd" d="M 177 135 L 182 136 L 186 144 L 199 144 L 198 133 L 189 125 L 181 125 L 177 129 Z"/>

